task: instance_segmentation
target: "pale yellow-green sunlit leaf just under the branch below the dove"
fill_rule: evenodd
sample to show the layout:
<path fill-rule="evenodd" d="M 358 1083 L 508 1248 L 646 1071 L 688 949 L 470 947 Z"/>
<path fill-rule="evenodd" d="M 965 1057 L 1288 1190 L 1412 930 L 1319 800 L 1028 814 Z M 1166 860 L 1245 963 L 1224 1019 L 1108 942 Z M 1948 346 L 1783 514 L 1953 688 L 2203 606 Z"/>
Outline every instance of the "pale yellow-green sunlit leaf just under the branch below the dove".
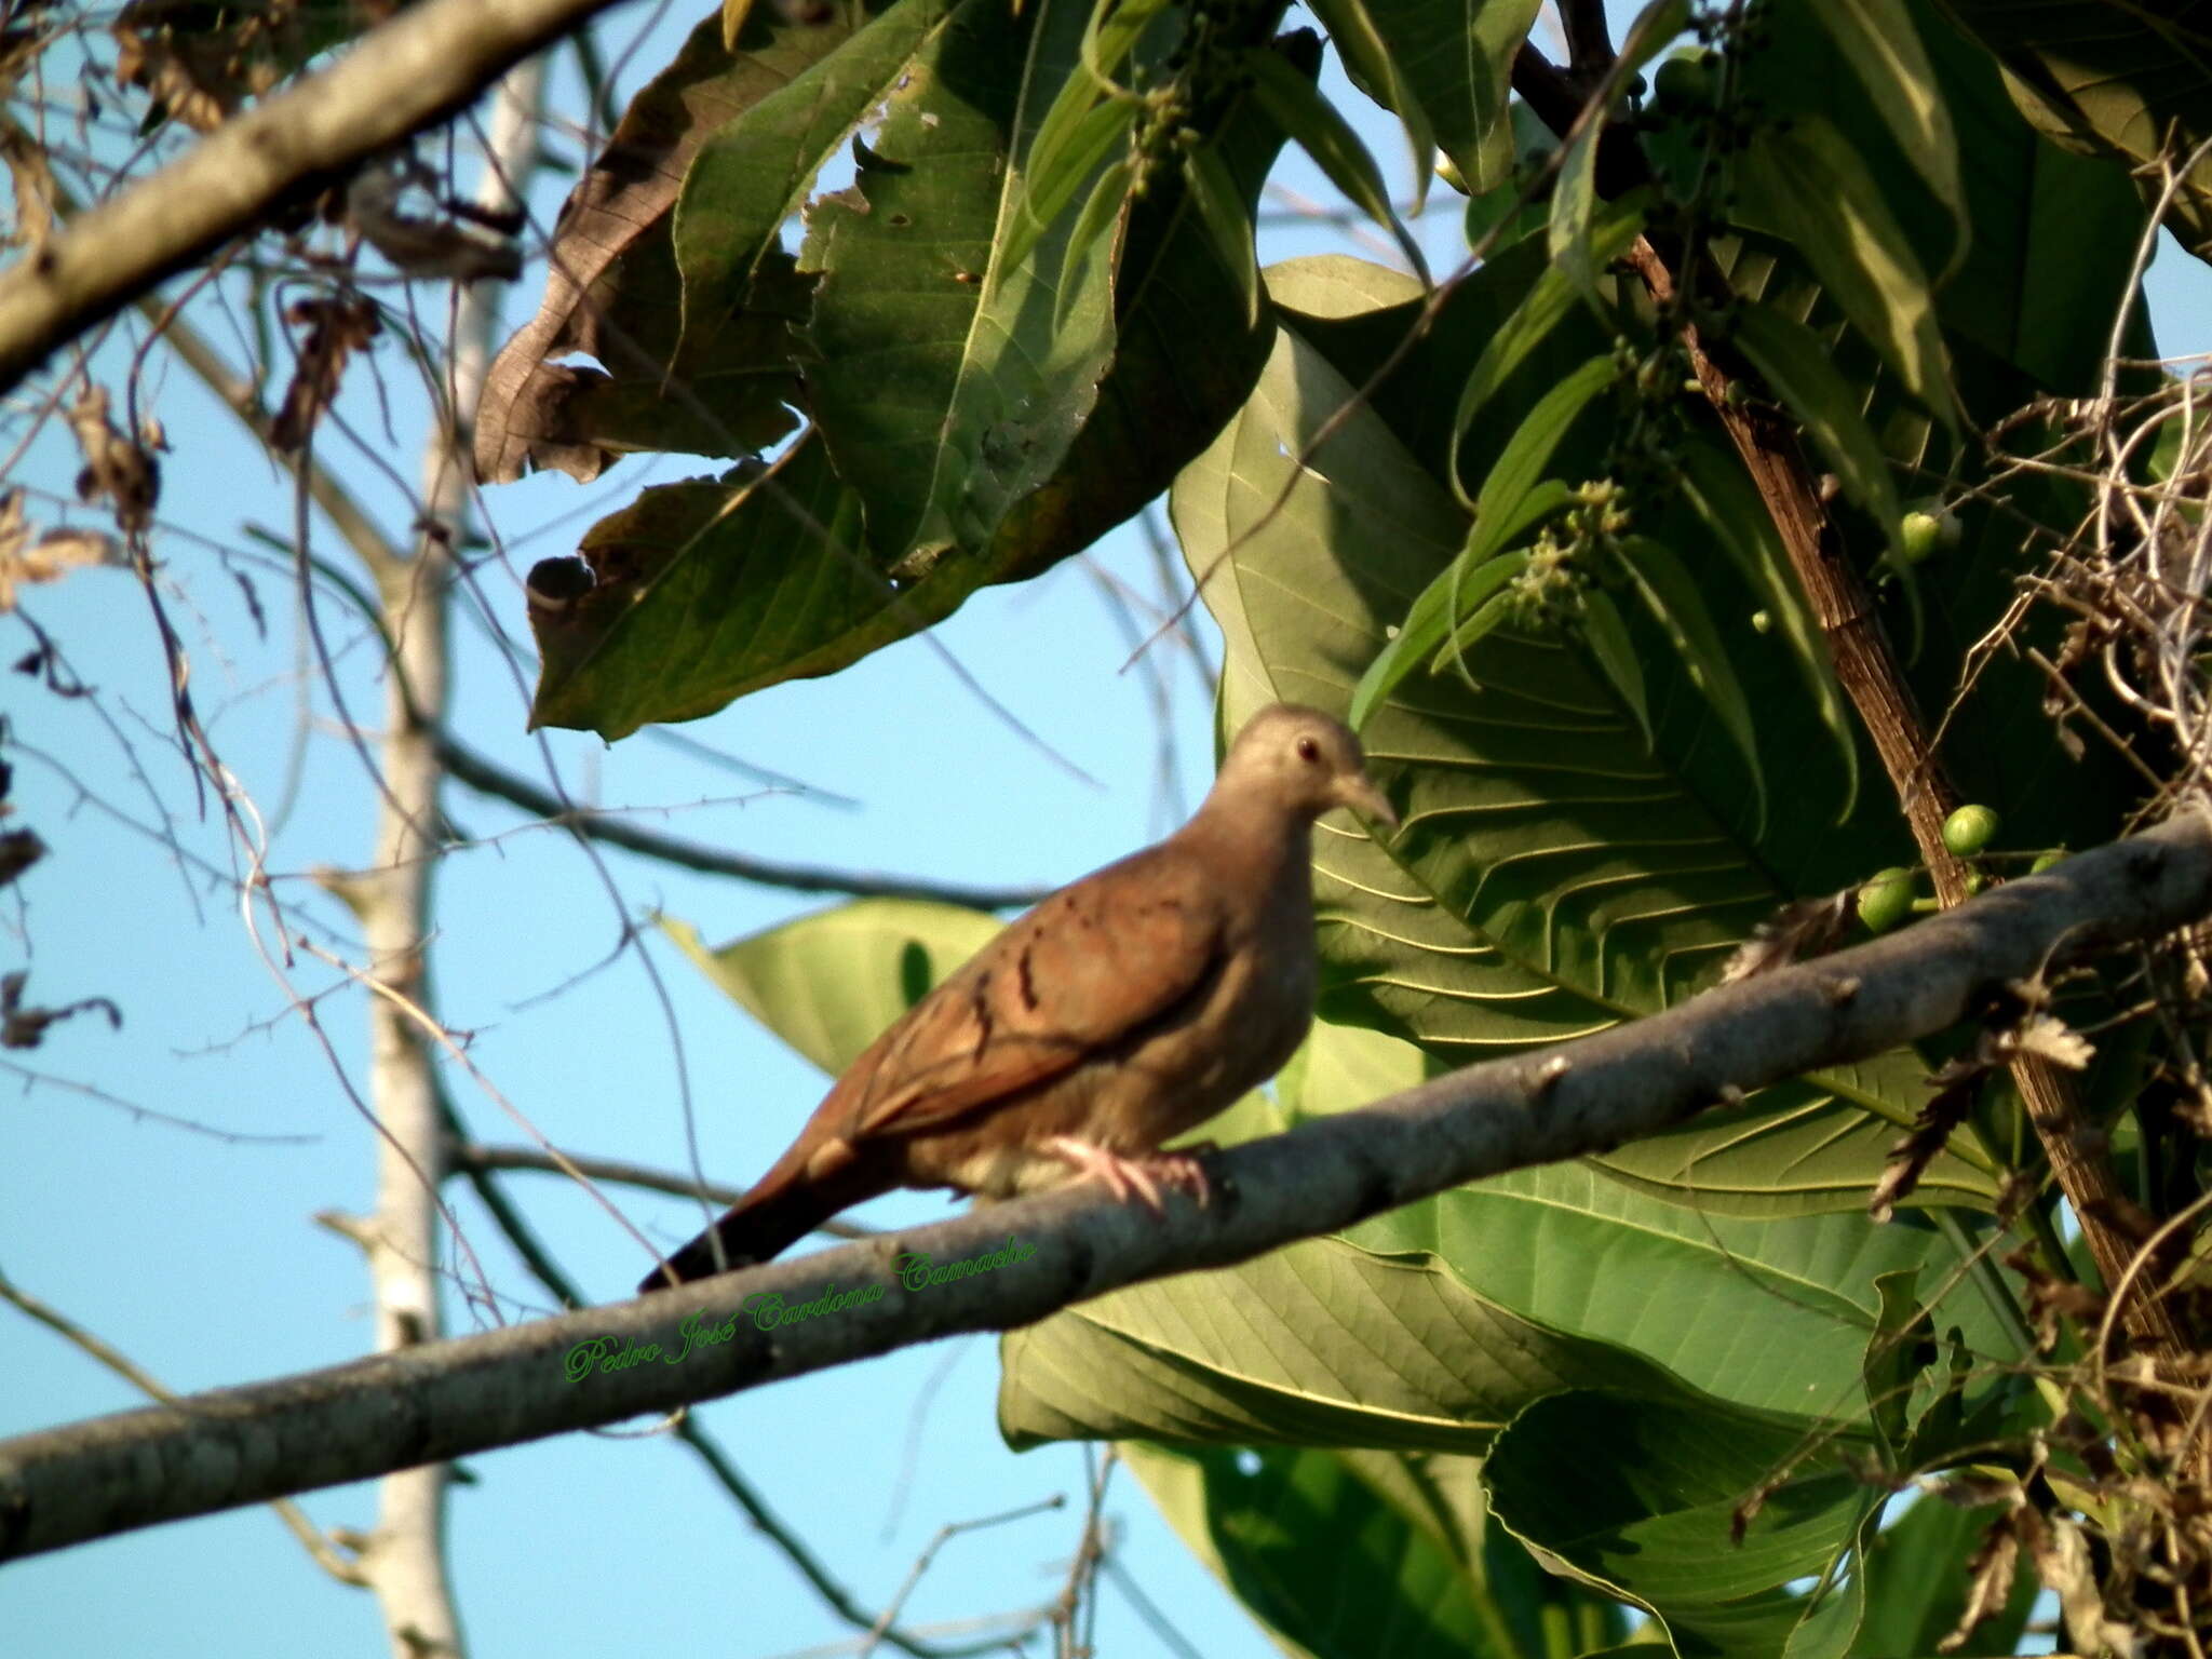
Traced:
<path fill-rule="evenodd" d="M 998 1425 L 1044 1440 L 1480 1453 L 1553 1389 L 1659 1385 L 1632 1354 L 1500 1312 L 1420 1259 L 1305 1239 L 1130 1285 L 1000 1340 Z"/>

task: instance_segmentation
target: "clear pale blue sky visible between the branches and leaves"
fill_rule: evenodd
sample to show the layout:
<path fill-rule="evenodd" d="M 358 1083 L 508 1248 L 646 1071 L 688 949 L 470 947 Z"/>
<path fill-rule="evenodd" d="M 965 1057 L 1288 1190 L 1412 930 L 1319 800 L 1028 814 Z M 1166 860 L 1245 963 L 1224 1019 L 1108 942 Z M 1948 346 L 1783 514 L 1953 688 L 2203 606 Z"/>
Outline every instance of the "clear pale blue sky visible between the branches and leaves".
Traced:
<path fill-rule="evenodd" d="M 617 13 L 615 38 L 648 18 Z M 688 22 L 688 20 L 684 20 Z M 635 62 L 650 69 L 681 24 L 653 29 Z M 1334 77 L 1334 69 L 1332 69 Z M 626 86 L 637 75 L 628 75 Z M 1340 88 L 1340 80 L 1334 82 Z M 566 108 L 575 108 L 566 80 Z M 1380 122 L 1369 139 L 1394 173 L 1405 146 Z M 1285 181 L 1316 201 L 1310 168 Z M 544 219 L 562 195 L 549 181 Z M 1458 246 L 1455 197 L 1438 190 L 1431 250 Z M 1270 257 L 1340 246 L 1270 230 Z M 1449 261 L 1447 261 L 1449 263 Z M 2168 252 L 2152 274 L 2168 352 L 2212 347 L 2205 272 Z M 535 283 L 509 301 L 535 305 Z M 237 354 L 237 341 L 221 341 Z M 117 354 L 104 354 L 113 369 Z M 420 398 L 389 347 L 385 398 L 356 374 L 323 453 L 403 531 L 400 482 L 414 480 Z M 246 531 L 288 533 L 290 500 L 232 418 L 181 369 L 157 378 L 175 451 L 166 458 L 164 591 L 195 661 L 195 692 L 226 763 L 272 823 L 279 894 L 349 933 L 307 880 L 316 865 L 361 860 L 372 783 L 332 734 L 327 690 L 303 659 L 290 573 Z M 398 478 L 383 478 L 389 467 Z M 62 515 L 75 458 L 46 434 L 20 469 L 38 524 Z M 677 476 L 664 469 L 659 476 Z M 1062 883 L 1170 827 L 1210 776 L 1210 699 L 1190 664 L 1155 657 L 1170 699 L 1172 787 L 1161 781 L 1155 688 L 1126 670 L 1128 639 L 1104 588 L 1159 604 L 1152 555 L 1135 526 L 1051 575 L 973 599 L 927 641 L 883 650 L 821 681 L 748 697 L 684 737 L 785 772 L 818 792 L 732 776 L 697 754 L 637 737 L 606 748 L 577 732 L 524 734 L 529 664 L 520 577 L 566 551 L 597 513 L 646 478 L 622 467 L 593 489 L 535 478 L 493 491 L 502 557 L 482 566 L 484 613 L 458 624 L 453 728 L 542 776 L 557 768 L 588 801 L 653 812 L 675 834 L 765 858 L 896 869 L 973 883 Z M 343 562 L 334 538 L 319 551 Z M 257 633 L 248 586 L 265 611 Z M 356 719 L 374 721 L 372 641 L 325 597 L 341 684 Z M 15 761 L 15 823 L 53 856 L 13 889 L 0 916 L 4 967 L 31 969 L 33 1002 L 106 995 L 119 1033 L 95 1015 L 58 1026 L 9 1066 L 279 1141 L 223 1141 L 139 1121 L 66 1086 L 7 1091 L 0 1106 L 0 1272 L 115 1343 L 175 1389 L 204 1389 L 354 1358 L 367 1347 L 358 1252 L 316 1225 L 321 1210 L 369 1203 L 369 1133 L 332 1062 L 246 938 L 221 883 L 179 863 L 148 827 L 168 814 L 175 843 L 217 872 L 234 867 L 219 818 L 201 807 L 170 739 L 161 657 L 144 597 L 119 571 L 91 571 L 29 599 L 97 697 L 66 699 L 9 677 L 0 697 Z M 1210 626 L 1199 624 L 1206 650 Z M 504 637 L 502 637 L 504 635 Z M 13 659 L 20 622 L 0 619 Z M 1053 765 L 951 670 L 1097 783 Z M 748 933 L 823 900 L 692 876 L 522 823 L 504 805 L 451 790 L 473 838 L 440 874 L 436 1000 L 502 1095 L 555 1144 L 681 1166 L 681 1097 L 697 1110 L 706 1168 L 745 1179 L 781 1150 L 823 1079 L 708 989 L 666 945 L 622 949 L 648 909 L 695 922 L 710 940 Z M 117 816 L 124 814 L 124 816 Z M 294 989 L 332 973 L 301 960 Z M 666 1002 L 664 1002 L 666 995 Z M 358 1075 L 363 1006 L 338 989 L 319 1004 L 341 1066 Z M 0 1071 L 0 1082 L 11 1073 Z M 467 1077 L 451 1077 L 482 1139 L 520 1133 Z M 628 1292 L 644 1270 L 630 1241 L 588 1199 L 546 1177 L 513 1177 L 555 1252 L 595 1296 Z M 495 1230 L 458 1188 L 471 1243 L 520 1301 L 544 1312 Z M 695 1212 L 630 1194 L 628 1212 L 677 1241 Z M 940 1197 L 902 1194 L 878 1219 L 945 1214 Z M 947 1544 L 907 1604 L 909 1626 L 971 1619 L 1057 1595 L 1079 1531 L 1084 1455 L 1060 1447 L 1013 1455 L 993 1427 L 991 1343 L 962 1338 L 805 1378 L 701 1409 L 783 1520 L 867 1606 L 885 1604 L 947 1522 L 1037 1504 L 1068 1506 Z M 0 1310 L 0 1433 L 124 1409 L 137 1396 L 104 1367 Z M 453 1495 L 453 1566 L 480 1657 L 535 1655 L 577 1641 L 624 1652 L 781 1655 L 849 1637 L 787 1562 L 664 1436 L 602 1433 L 487 1453 L 478 1484 Z M 305 1500 L 323 1526 L 367 1526 L 367 1486 Z M 1181 1548 L 1141 1491 L 1119 1475 L 1108 1515 L 1121 1562 L 1194 1648 L 1225 1659 L 1272 1652 L 1237 1604 Z M 374 1652 L 383 1630 L 369 1597 L 325 1577 L 265 1509 L 137 1533 L 9 1566 L 0 1621 L 24 1652 L 292 1657 Z M 1150 1652 L 1121 1593 L 1106 1584 L 1102 1650 Z"/>

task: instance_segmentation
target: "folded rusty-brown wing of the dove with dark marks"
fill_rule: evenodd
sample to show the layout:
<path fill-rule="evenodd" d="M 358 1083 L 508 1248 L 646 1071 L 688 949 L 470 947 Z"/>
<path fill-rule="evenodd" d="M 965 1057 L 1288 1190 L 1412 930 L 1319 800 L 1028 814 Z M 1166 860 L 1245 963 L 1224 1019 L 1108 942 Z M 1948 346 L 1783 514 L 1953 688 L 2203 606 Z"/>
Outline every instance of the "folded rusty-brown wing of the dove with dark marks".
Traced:
<path fill-rule="evenodd" d="M 1219 880 L 1166 843 L 1062 887 L 914 1004 L 816 1117 L 909 1135 L 1073 1071 L 1199 995 L 1225 951 Z"/>

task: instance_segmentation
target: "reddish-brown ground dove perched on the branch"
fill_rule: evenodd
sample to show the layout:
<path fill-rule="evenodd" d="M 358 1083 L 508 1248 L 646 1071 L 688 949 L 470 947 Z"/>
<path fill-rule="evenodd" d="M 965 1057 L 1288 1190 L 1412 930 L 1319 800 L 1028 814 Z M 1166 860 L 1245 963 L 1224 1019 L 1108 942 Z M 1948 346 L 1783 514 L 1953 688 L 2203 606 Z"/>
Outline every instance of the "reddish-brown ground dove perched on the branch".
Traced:
<path fill-rule="evenodd" d="M 1157 847 L 1062 887 L 863 1053 L 792 1148 L 639 1290 L 768 1261 L 900 1186 L 1004 1199 L 1095 1175 L 1206 1197 L 1159 1146 L 1290 1060 L 1314 1020 L 1314 818 L 1398 818 L 1358 739 L 1292 703 L 1237 737 Z"/>

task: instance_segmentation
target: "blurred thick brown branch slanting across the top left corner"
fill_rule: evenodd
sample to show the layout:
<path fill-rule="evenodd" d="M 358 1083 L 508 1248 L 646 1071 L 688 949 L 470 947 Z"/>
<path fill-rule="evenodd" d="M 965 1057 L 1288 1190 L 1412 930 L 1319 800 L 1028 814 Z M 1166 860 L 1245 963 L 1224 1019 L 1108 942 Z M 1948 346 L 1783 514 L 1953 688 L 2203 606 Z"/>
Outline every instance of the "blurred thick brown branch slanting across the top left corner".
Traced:
<path fill-rule="evenodd" d="M 0 274 L 0 394 L 288 197 L 436 126 L 613 0 L 422 0 Z"/>

